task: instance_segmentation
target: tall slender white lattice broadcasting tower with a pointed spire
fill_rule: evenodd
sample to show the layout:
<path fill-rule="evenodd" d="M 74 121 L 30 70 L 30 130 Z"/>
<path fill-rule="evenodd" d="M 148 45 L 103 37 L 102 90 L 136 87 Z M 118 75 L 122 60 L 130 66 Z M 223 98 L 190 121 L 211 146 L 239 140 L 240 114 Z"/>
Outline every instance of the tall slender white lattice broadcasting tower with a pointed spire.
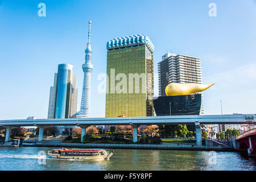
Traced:
<path fill-rule="evenodd" d="M 90 54 L 92 49 L 90 49 L 90 24 L 92 22 L 89 20 L 89 32 L 88 32 L 88 43 L 85 49 L 85 63 L 82 65 L 82 70 L 84 71 L 84 84 L 82 85 L 82 99 L 79 115 L 89 117 L 90 115 L 90 73 L 92 72 L 93 65 L 90 64 Z"/>

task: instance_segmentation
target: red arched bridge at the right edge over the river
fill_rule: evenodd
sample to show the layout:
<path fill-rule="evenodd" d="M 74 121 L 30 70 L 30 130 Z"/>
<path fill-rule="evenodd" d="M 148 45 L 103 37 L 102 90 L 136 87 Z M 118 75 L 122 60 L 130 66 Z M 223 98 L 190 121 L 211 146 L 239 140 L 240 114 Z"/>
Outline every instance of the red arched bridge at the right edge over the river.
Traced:
<path fill-rule="evenodd" d="M 249 156 L 256 156 L 256 129 L 246 131 L 236 138 L 240 149 L 247 150 Z"/>

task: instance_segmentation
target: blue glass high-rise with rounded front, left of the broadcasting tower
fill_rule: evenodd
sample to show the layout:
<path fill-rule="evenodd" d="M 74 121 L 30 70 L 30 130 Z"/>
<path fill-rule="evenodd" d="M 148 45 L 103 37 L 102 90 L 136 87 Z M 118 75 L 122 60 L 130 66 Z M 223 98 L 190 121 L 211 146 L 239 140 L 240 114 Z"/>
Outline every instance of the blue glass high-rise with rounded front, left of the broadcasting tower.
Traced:
<path fill-rule="evenodd" d="M 76 118 L 77 89 L 73 65 L 59 64 L 50 89 L 48 118 Z"/>

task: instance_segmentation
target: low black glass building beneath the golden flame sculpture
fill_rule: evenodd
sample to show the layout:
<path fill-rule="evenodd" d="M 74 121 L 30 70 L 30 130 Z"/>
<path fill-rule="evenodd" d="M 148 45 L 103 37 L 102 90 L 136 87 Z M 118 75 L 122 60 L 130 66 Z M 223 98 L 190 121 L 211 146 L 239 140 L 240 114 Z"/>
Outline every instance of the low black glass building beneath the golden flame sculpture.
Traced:
<path fill-rule="evenodd" d="M 170 110 L 171 115 L 199 115 L 201 110 L 201 94 L 160 96 L 153 102 L 157 116 L 170 115 Z"/>

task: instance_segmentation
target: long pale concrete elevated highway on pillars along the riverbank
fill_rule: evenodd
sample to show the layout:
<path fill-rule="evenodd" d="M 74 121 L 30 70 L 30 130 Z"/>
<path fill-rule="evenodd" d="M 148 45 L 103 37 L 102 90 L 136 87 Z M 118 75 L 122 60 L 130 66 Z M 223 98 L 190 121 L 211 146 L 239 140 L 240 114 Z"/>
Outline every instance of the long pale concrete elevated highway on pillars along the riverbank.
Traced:
<path fill-rule="evenodd" d="M 92 125 L 131 125 L 133 127 L 133 141 L 137 142 L 137 129 L 140 125 L 195 125 L 196 144 L 201 145 L 200 125 L 214 124 L 246 124 L 245 117 L 254 114 L 227 115 L 171 115 L 161 117 L 118 117 L 118 118 L 69 118 L 69 119 L 13 119 L 2 120 L 0 126 L 5 127 L 6 141 L 10 139 L 10 131 L 14 127 L 39 127 L 39 141 L 43 140 L 43 129 L 49 126 L 79 126 L 82 129 L 81 139 L 86 134 L 86 128 Z"/>

